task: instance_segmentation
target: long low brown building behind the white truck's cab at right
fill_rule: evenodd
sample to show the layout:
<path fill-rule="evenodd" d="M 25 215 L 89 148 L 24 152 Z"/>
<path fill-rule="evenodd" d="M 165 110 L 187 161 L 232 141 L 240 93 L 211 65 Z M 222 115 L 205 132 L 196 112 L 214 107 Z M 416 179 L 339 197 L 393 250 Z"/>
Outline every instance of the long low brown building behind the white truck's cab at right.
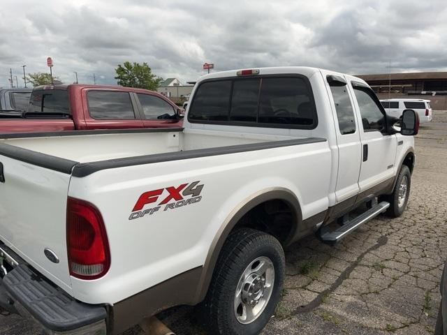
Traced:
<path fill-rule="evenodd" d="M 379 98 L 424 98 L 437 110 L 447 109 L 447 72 L 382 73 L 357 75 Z"/>

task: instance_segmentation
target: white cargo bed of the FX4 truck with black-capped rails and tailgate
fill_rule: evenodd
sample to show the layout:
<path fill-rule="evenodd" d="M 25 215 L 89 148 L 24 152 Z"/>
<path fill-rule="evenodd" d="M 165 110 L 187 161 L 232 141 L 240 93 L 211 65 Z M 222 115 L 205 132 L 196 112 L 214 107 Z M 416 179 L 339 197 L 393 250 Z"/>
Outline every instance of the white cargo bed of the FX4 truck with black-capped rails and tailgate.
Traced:
<path fill-rule="evenodd" d="M 115 304 L 203 266 L 221 221 L 260 189 L 291 189 L 302 218 L 328 207 L 332 160 L 323 138 L 182 128 L 2 136 L 0 241 L 88 304 Z M 199 182 L 200 202 L 133 219 L 142 193 Z M 89 290 L 68 271 L 67 196 L 94 204 L 108 232 L 110 270 Z"/>

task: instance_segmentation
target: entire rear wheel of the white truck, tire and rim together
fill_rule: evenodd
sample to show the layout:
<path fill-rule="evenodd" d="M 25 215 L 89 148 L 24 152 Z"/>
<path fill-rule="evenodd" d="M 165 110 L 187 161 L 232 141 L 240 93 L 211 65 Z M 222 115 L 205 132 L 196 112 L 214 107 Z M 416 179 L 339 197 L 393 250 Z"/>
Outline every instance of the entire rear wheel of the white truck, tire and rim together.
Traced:
<path fill-rule="evenodd" d="M 272 235 L 230 233 L 205 299 L 210 334 L 254 335 L 267 325 L 284 283 L 284 251 Z"/>

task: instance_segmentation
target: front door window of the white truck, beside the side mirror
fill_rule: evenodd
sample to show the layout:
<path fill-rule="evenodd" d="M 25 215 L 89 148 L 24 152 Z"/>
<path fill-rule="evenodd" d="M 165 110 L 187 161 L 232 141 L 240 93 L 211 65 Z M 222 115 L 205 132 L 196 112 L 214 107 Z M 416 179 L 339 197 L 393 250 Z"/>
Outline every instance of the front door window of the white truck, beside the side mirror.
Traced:
<path fill-rule="evenodd" d="M 362 117 L 363 131 L 381 131 L 384 124 L 384 115 L 376 101 L 369 93 L 369 89 L 354 87 L 360 115 Z"/>

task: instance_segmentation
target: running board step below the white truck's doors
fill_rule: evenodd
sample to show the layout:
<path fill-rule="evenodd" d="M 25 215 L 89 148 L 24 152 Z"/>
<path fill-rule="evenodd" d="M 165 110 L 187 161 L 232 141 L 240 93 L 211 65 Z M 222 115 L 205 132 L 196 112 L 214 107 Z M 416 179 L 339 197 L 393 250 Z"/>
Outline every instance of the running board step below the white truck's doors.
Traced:
<path fill-rule="evenodd" d="M 390 207 L 390 203 L 386 201 L 382 201 L 379 204 L 376 204 L 374 207 L 368 209 L 364 213 L 360 214 L 356 218 L 353 218 L 351 221 L 344 223 L 340 228 L 333 230 L 332 232 L 322 232 L 321 239 L 324 242 L 328 242 L 330 244 L 335 244 L 349 233 L 356 230 L 356 228 L 360 227 L 363 223 L 367 223 L 372 218 L 375 218 L 379 214 L 386 211 L 386 209 Z"/>

